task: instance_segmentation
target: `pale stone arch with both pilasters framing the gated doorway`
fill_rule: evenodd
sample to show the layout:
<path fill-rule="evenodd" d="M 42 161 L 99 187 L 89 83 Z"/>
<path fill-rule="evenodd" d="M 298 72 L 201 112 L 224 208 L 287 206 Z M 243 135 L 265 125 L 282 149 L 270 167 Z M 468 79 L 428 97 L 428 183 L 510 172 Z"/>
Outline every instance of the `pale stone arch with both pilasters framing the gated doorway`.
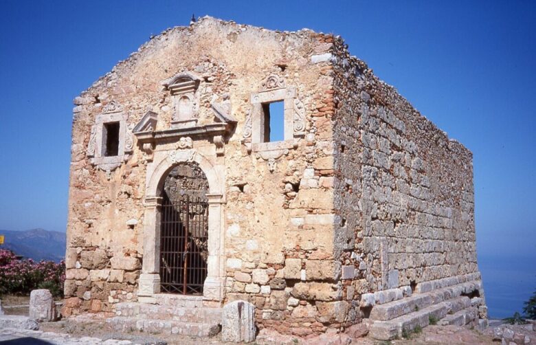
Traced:
<path fill-rule="evenodd" d="M 161 153 L 163 154 L 163 153 Z M 159 254 L 160 254 L 160 205 L 161 190 L 169 172 L 181 162 L 196 162 L 205 174 L 209 193 L 208 212 L 208 273 L 203 287 L 203 298 L 208 300 L 223 300 L 225 288 L 225 258 L 223 257 L 223 166 L 216 166 L 210 160 L 193 148 L 186 150 L 168 151 L 155 164 L 153 169 L 148 167 L 148 179 L 145 190 L 145 213 L 143 248 L 144 259 L 142 274 L 139 277 L 138 296 L 153 296 L 160 292 Z M 151 172 L 152 171 L 152 172 Z"/>

